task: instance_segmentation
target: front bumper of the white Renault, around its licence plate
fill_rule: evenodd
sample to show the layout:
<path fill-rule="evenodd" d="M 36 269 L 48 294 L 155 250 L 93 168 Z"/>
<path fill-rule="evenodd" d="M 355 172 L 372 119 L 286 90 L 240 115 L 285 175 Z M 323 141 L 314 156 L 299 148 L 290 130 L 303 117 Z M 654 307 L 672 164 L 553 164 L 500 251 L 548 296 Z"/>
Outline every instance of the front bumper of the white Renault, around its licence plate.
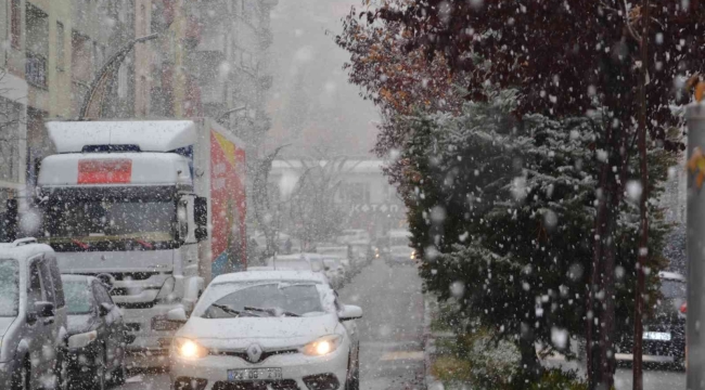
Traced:
<path fill-rule="evenodd" d="M 273 355 L 252 364 L 243 359 L 228 355 L 208 355 L 198 360 L 170 356 L 170 378 L 174 389 L 225 390 L 225 389 L 344 389 L 347 378 L 348 351 L 339 348 L 326 356 L 306 356 L 300 353 Z M 274 382 L 228 381 L 228 370 L 238 368 L 282 368 L 282 379 Z M 311 385 L 323 378 L 332 386 Z M 307 382 L 309 385 L 307 385 Z M 295 385 L 294 385 L 295 384 Z M 336 384 L 336 385 L 335 385 Z M 239 387 L 238 385 L 241 385 Z M 334 387 L 333 387 L 334 386 Z"/>

